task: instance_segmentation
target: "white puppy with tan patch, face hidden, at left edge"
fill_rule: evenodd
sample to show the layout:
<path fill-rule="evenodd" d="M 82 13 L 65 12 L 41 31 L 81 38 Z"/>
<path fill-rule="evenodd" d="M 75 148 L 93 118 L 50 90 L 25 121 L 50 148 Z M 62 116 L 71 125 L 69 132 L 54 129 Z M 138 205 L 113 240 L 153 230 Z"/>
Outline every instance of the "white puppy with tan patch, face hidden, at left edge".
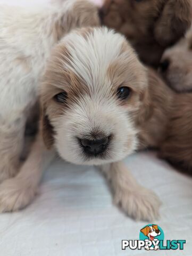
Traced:
<path fill-rule="evenodd" d="M 71 29 L 97 26 L 88 1 L 63 1 L 38 10 L 0 8 L 0 182 L 19 167 L 24 128 L 37 101 L 39 81 L 52 47 Z"/>

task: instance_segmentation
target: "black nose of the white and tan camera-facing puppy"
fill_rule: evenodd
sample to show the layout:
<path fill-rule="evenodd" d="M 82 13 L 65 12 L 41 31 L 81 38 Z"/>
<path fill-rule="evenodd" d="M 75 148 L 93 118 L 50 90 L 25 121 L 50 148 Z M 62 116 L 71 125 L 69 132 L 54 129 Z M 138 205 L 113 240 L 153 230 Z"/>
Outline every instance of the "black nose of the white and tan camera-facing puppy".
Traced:
<path fill-rule="evenodd" d="M 106 150 L 109 140 L 110 137 L 103 137 L 95 140 L 81 139 L 80 143 L 86 154 L 96 156 Z"/>

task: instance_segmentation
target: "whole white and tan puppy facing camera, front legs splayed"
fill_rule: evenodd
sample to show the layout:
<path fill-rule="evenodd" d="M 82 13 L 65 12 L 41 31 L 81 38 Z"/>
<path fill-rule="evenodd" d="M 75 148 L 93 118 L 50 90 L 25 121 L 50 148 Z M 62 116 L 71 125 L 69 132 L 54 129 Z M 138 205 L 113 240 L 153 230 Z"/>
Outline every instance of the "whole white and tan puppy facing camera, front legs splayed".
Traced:
<path fill-rule="evenodd" d="M 84 28 L 66 35 L 52 52 L 41 87 L 43 136 L 19 174 L 0 186 L 1 211 L 30 203 L 57 151 L 71 163 L 99 165 L 114 202 L 128 215 L 156 218 L 160 201 L 120 162 L 138 147 L 147 87 L 146 69 L 120 34 Z"/>

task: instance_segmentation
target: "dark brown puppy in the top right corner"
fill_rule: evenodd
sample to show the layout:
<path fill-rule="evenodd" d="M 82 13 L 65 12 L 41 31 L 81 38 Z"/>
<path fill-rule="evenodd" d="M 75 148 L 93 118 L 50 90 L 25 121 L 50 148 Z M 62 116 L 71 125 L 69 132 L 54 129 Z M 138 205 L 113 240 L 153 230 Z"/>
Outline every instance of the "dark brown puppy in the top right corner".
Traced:
<path fill-rule="evenodd" d="M 190 5 L 190 0 L 105 0 L 101 17 L 126 35 L 144 63 L 157 67 L 166 47 L 189 28 Z"/>

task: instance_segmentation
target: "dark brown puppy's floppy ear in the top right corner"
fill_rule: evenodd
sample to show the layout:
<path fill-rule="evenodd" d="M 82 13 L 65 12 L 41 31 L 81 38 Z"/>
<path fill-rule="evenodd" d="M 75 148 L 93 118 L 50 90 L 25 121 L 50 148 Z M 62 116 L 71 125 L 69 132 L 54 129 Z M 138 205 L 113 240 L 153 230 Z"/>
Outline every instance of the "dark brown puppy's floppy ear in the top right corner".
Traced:
<path fill-rule="evenodd" d="M 191 9 L 190 0 L 166 0 L 154 29 L 160 45 L 171 45 L 185 34 L 191 23 Z"/>

